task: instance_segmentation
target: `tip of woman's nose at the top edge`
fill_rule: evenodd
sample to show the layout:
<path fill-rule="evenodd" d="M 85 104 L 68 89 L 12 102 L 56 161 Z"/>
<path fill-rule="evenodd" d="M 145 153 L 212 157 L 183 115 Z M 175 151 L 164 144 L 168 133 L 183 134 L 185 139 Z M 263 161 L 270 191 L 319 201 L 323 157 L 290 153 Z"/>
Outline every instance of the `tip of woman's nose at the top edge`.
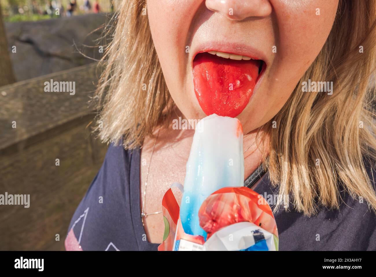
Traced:
<path fill-rule="evenodd" d="M 269 0 L 205 0 L 206 8 L 231 20 L 247 17 L 267 17 L 271 13 Z"/>

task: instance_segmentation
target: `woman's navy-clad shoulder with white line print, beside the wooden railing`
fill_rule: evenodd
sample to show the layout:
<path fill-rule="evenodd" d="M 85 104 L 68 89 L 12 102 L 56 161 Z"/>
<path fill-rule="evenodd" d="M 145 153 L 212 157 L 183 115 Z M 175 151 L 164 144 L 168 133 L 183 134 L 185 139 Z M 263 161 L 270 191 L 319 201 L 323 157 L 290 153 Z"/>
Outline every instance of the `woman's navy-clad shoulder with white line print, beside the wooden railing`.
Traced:
<path fill-rule="evenodd" d="M 66 250 L 106 250 L 110 243 L 121 248 L 131 221 L 129 184 L 136 176 L 132 163 L 139 166 L 139 149 L 109 146 L 102 167 L 71 219 Z"/>

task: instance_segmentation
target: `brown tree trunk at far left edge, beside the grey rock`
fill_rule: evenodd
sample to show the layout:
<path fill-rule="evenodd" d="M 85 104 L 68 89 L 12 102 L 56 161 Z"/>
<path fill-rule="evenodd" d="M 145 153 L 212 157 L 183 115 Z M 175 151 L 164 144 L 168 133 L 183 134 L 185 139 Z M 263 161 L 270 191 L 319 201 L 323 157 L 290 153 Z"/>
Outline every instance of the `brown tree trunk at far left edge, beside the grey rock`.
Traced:
<path fill-rule="evenodd" d="M 0 5 L 0 86 L 15 82 Z"/>

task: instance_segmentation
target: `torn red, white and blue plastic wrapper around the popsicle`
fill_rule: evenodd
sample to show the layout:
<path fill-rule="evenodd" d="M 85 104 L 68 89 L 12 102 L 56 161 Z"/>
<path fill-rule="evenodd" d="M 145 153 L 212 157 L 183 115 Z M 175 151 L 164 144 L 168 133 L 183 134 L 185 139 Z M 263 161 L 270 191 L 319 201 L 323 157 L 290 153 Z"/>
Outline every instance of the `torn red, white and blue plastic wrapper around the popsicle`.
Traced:
<path fill-rule="evenodd" d="M 199 210 L 207 239 L 184 233 L 179 205 L 169 189 L 162 201 L 165 222 L 159 251 L 277 251 L 276 221 L 267 201 L 247 187 L 225 187 L 212 193 Z M 177 230 L 177 226 L 179 226 Z"/>

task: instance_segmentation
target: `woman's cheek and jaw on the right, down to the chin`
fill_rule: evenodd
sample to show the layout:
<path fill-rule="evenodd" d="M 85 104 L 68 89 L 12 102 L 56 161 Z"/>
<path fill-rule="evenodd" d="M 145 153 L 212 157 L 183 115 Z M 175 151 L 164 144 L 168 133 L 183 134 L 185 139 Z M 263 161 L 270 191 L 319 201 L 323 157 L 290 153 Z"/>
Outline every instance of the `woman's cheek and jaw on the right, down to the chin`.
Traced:
<path fill-rule="evenodd" d="M 275 41 L 270 49 L 276 46 L 277 52 L 272 54 L 274 59 L 265 72 L 264 82 L 267 82 L 261 88 L 262 93 L 255 94 L 257 105 L 250 105 L 247 110 L 252 120 L 244 129 L 252 130 L 268 122 L 285 105 L 324 45 L 338 1 L 271 0 L 271 3 Z M 316 8 L 320 8 L 320 15 L 316 15 Z M 253 126 L 255 122 L 258 124 Z"/>

